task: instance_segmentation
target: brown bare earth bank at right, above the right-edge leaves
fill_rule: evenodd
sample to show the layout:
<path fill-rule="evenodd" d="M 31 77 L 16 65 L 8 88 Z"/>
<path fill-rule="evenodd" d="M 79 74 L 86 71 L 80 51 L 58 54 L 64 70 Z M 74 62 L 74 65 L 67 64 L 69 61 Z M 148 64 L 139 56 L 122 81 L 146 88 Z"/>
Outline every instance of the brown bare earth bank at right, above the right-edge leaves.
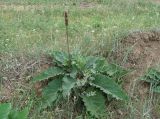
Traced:
<path fill-rule="evenodd" d="M 127 68 L 143 73 L 160 62 L 160 32 L 135 32 L 125 37 L 117 50 L 116 59 Z"/>

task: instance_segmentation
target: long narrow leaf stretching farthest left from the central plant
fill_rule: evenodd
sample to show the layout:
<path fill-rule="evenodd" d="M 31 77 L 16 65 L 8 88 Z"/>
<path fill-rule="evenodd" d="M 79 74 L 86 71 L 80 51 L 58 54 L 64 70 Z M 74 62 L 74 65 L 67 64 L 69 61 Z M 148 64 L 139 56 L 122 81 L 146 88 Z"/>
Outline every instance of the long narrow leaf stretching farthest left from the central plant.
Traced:
<path fill-rule="evenodd" d="M 51 67 L 45 71 L 43 71 L 42 73 L 38 74 L 37 76 L 35 76 L 33 78 L 33 81 L 42 81 L 51 77 L 55 77 L 57 75 L 63 74 L 63 70 L 61 70 L 58 67 Z"/>

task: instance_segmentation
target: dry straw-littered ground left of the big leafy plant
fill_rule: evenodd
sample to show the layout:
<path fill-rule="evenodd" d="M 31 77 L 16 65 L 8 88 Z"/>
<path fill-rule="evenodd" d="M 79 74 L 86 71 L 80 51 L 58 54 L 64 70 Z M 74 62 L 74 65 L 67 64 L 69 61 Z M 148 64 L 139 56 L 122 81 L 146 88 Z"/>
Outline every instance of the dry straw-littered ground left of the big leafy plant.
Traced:
<path fill-rule="evenodd" d="M 42 56 L 38 60 L 24 56 L 1 57 L 0 102 L 7 102 L 21 96 L 22 90 L 32 90 L 33 87 L 29 84 L 32 76 L 50 65 L 51 61 L 46 56 Z"/>

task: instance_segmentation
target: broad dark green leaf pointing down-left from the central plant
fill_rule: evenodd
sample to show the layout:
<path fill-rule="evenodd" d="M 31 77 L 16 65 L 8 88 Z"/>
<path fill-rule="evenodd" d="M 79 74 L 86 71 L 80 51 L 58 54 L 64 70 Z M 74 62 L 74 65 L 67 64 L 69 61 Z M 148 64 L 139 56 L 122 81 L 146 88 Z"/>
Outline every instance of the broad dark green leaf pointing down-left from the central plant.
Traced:
<path fill-rule="evenodd" d="M 62 79 L 54 79 L 42 91 L 41 108 L 52 106 L 52 103 L 58 98 L 58 92 L 62 89 Z"/>

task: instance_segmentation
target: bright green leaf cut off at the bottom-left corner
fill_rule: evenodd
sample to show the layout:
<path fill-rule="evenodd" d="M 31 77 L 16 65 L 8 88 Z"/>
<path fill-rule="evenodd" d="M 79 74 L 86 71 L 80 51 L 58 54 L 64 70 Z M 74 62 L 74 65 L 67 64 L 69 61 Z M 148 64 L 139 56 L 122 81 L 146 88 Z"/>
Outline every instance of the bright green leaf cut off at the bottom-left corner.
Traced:
<path fill-rule="evenodd" d="M 10 103 L 0 104 L 0 119 L 8 119 L 10 110 L 11 110 Z"/>

